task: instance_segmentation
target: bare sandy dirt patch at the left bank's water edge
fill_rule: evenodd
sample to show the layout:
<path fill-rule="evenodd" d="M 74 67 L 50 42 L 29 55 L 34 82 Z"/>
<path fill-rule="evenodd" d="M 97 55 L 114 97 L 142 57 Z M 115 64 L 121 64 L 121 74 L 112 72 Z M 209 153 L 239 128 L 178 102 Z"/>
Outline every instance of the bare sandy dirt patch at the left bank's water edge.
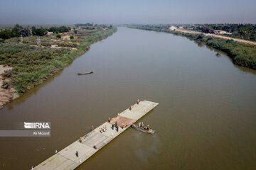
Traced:
<path fill-rule="evenodd" d="M 4 104 L 8 103 L 9 101 L 13 100 L 14 98 L 18 97 L 18 94 L 16 94 L 16 91 L 13 88 L 9 89 L 2 89 L 1 86 L 3 84 L 3 81 L 9 81 L 9 79 L 4 79 L 1 74 L 4 73 L 4 71 L 7 71 L 9 69 L 12 69 L 11 67 L 4 67 L 3 65 L 0 65 L 0 108 L 4 106 Z"/>

